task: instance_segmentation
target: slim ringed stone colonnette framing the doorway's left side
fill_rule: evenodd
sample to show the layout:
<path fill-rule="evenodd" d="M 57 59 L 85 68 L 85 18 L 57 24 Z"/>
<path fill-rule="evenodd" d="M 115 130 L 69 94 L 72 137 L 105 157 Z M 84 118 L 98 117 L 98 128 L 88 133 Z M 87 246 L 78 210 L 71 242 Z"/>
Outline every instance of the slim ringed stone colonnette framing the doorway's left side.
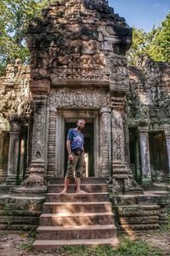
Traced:
<path fill-rule="evenodd" d="M 54 177 L 56 173 L 55 151 L 56 151 L 56 108 L 49 109 L 48 124 L 48 168 L 47 177 Z"/>

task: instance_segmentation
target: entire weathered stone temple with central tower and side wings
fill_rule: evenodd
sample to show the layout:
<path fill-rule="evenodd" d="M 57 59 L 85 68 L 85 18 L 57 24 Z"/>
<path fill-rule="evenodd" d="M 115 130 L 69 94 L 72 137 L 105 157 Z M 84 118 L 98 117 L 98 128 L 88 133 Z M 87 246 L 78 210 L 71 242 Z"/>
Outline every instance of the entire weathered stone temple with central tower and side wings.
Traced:
<path fill-rule="evenodd" d="M 0 229 L 39 224 L 47 187 L 64 180 L 65 137 L 78 118 L 87 123 L 83 180 L 105 179 L 117 228 L 166 222 L 170 64 L 143 54 L 127 66 L 132 33 L 105 0 L 58 0 L 31 22 L 31 65 L 16 60 L 0 78 Z"/>

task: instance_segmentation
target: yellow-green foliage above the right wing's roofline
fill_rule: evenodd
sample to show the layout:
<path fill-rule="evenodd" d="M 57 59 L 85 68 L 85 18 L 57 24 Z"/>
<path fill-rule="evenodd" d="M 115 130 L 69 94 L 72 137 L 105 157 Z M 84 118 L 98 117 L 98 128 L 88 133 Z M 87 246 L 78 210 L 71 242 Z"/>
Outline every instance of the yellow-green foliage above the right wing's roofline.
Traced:
<path fill-rule="evenodd" d="M 155 61 L 170 60 L 170 14 L 160 27 L 153 26 L 148 33 L 133 27 L 133 45 L 127 51 L 129 65 L 136 65 L 139 55 L 144 53 Z"/>

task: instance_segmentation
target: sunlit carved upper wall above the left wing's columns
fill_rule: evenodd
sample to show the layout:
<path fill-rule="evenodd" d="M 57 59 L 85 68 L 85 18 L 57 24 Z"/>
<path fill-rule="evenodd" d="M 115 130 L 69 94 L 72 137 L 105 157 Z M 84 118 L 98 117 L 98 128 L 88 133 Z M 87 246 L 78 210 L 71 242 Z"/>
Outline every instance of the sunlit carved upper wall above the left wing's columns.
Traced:
<path fill-rule="evenodd" d="M 9 128 L 9 117 L 29 117 L 31 94 L 29 91 L 30 66 L 21 65 L 17 59 L 14 65 L 7 65 L 6 76 L 0 87 L 0 127 Z"/>

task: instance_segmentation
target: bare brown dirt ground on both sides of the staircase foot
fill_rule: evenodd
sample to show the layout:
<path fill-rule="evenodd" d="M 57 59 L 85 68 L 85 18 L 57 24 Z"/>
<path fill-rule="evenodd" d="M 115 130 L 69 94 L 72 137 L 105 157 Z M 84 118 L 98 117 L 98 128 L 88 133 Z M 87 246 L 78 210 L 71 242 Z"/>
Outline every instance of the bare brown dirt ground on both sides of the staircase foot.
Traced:
<path fill-rule="evenodd" d="M 153 232 L 143 233 L 135 236 L 148 242 L 151 247 L 158 247 L 163 250 L 163 254 L 170 256 L 170 233 L 167 232 Z M 119 237 L 122 240 L 122 236 Z M 69 256 L 67 253 L 37 253 L 27 251 L 31 247 L 32 238 L 28 232 L 23 231 L 0 231 L 0 256 Z M 154 256 L 154 255 L 153 255 Z"/>

